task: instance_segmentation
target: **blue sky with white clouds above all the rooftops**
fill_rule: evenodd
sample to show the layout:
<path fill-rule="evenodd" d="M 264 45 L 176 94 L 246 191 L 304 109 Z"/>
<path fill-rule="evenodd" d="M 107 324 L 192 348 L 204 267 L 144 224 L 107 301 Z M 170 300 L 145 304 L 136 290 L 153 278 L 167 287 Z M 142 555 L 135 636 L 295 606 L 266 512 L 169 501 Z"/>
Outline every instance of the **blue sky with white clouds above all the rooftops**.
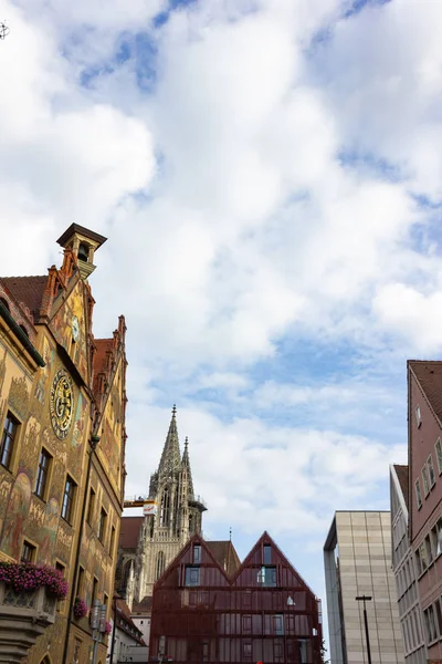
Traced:
<path fill-rule="evenodd" d="M 388 509 L 407 359 L 442 346 L 438 0 L 0 0 L 0 272 L 105 235 L 127 494 L 173 403 L 209 539 L 267 530 L 322 598 L 338 509 Z"/>

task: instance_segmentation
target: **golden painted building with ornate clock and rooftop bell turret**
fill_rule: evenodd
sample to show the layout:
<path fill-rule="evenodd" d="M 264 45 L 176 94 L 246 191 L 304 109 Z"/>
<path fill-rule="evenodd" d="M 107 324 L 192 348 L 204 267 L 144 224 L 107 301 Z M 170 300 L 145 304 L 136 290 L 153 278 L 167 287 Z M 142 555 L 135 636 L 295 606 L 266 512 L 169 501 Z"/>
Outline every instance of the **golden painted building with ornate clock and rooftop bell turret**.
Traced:
<path fill-rule="evenodd" d="M 73 224 L 57 240 L 60 269 L 0 278 L 0 560 L 57 568 L 70 584 L 28 664 L 90 661 L 90 621 L 74 618 L 76 596 L 110 614 L 127 362 L 123 317 L 110 339 L 93 335 L 87 278 L 105 240 Z"/>

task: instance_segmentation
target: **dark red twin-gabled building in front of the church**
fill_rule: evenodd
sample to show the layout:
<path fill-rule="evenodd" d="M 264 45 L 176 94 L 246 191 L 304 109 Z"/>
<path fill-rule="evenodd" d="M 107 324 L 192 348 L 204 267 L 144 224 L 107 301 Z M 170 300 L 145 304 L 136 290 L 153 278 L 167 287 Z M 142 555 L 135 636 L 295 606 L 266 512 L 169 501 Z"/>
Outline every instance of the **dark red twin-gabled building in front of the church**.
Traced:
<path fill-rule="evenodd" d="M 194 536 L 154 589 L 150 661 L 320 664 L 320 602 L 264 532 L 228 577 Z"/>

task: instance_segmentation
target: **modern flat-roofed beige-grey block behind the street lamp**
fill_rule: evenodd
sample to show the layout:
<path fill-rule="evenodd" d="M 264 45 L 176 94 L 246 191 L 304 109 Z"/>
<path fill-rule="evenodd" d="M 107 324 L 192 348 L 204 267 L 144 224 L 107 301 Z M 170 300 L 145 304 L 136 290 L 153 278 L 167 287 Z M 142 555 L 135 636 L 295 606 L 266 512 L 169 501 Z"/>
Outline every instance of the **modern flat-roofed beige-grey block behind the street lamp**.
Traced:
<path fill-rule="evenodd" d="M 404 664 L 389 511 L 337 511 L 324 546 L 332 664 Z"/>

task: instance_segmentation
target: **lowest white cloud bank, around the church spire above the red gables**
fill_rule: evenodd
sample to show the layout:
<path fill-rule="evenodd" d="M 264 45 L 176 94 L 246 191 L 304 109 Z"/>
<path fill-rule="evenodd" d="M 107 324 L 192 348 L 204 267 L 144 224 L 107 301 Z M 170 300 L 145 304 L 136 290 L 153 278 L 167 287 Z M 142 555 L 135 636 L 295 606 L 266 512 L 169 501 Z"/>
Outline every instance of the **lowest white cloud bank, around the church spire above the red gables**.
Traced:
<path fill-rule="evenodd" d="M 157 467 L 169 413 L 144 406 L 133 417 L 131 436 L 149 427 L 143 456 Z M 302 426 L 269 426 L 255 417 L 222 423 L 197 407 L 179 408 L 181 440 L 189 435 L 194 489 L 209 504 L 207 528 L 227 522 L 242 531 L 325 533 L 330 506 L 367 506 L 370 492 L 387 486 L 388 466 L 407 455 L 368 438 Z M 155 443 L 154 443 L 155 440 Z M 148 445 L 150 443 L 150 445 Z M 139 450 L 128 444 L 127 492 L 147 490 Z M 375 499 L 373 499 L 375 500 Z M 325 537 L 325 536 L 324 536 Z"/>

